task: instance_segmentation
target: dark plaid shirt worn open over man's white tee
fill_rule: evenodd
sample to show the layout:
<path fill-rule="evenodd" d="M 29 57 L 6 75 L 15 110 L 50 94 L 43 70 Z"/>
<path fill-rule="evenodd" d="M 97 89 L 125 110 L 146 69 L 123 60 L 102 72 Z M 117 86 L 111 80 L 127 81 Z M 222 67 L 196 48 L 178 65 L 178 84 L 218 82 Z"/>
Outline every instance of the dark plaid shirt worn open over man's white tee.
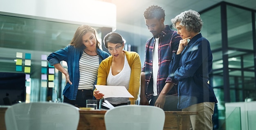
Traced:
<path fill-rule="evenodd" d="M 174 31 L 166 25 L 165 29 L 160 33 L 159 38 L 159 47 L 158 47 L 158 74 L 157 74 L 157 95 L 160 94 L 166 82 L 171 82 L 171 80 L 166 80 L 169 76 L 169 64 L 173 52 L 177 51 L 179 47 L 181 37 L 177 34 L 177 31 Z M 170 45 L 171 44 L 171 45 Z M 155 45 L 155 38 L 150 38 L 146 43 L 145 49 L 145 60 L 141 72 L 145 72 L 145 90 L 148 100 L 153 96 L 153 49 Z M 154 80 L 156 81 L 156 80 Z M 175 85 L 167 95 L 177 95 L 177 86 Z"/>

